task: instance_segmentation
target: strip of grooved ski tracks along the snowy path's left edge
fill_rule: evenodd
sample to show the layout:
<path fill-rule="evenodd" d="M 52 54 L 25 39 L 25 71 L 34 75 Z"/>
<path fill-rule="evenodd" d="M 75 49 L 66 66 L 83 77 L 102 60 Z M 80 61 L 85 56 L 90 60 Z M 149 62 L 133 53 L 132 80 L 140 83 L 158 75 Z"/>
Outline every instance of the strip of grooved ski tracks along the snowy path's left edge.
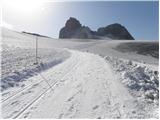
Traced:
<path fill-rule="evenodd" d="M 59 65 L 62 67 L 55 66 L 54 69 L 52 69 L 53 71 L 49 71 L 50 74 L 48 74 L 48 71 L 46 71 L 44 73 L 41 73 L 41 75 L 29 78 L 32 80 L 30 80 L 32 82 L 31 85 L 25 87 L 24 89 L 18 90 L 16 93 L 2 101 L 2 116 L 4 118 L 6 116 L 8 116 L 9 118 L 13 115 L 15 116 L 16 113 L 19 113 L 19 110 L 25 108 L 25 106 L 28 105 L 27 103 L 29 101 L 32 101 L 32 99 L 36 98 L 38 95 L 47 92 L 49 88 L 44 79 L 42 78 L 42 75 L 48 78 L 48 82 L 50 84 L 55 84 L 61 77 L 63 77 L 67 73 L 67 71 L 72 69 L 72 67 L 75 66 L 75 64 L 77 64 L 76 61 L 78 59 L 75 58 L 74 55 L 70 59 L 66 60 L 66 62 L 64 62 L 63 64 Z"/>

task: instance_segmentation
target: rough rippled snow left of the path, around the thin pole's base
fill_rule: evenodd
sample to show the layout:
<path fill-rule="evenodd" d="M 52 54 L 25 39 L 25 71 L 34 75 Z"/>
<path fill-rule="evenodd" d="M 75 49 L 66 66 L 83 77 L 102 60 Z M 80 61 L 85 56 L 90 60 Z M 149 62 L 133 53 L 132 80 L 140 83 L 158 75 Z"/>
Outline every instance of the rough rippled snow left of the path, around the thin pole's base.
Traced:
<path fill-rule="evenodd" d="M 23 86 L 22 81 L 69 57 L 69 53 L 62 49 L 38 49 L 37 65 L 35 51 L 33 48 L 11 48 L 2 45 L 1 91 L 9 87 Z"/>

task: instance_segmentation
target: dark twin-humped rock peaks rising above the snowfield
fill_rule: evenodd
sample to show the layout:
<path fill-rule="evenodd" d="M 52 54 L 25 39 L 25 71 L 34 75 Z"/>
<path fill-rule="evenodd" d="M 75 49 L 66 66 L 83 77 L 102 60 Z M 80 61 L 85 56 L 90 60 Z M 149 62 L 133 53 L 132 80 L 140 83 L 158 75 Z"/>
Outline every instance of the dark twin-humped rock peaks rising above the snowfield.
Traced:
<path fill-rule="evenodd" d="M 59 38 L 101 39 L 105 37 L 134 40 L 127 29 L 118 23 L 99 28 L 97 31 L 92 31 L 89 27 L 82 26 L 80 22 L 73 17 L 67 20 L 65 26 L 59 33 Z"/>

